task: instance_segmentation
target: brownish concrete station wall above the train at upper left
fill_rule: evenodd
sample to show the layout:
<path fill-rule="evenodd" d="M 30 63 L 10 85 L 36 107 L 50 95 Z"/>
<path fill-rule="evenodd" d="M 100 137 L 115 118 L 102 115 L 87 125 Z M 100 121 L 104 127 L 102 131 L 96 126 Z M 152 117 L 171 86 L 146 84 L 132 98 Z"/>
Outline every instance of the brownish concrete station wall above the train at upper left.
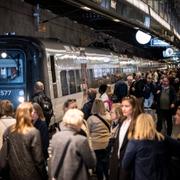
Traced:
<path fill-rule="evenodd" d="M 36 7 L 23 0 L 0 0 L 0 35 L 15 32 L 16 35 L 51 37 L 78 46 L 86 46 L 98 38 L 89 27 L 57 17 L 45 9 L 39 11 L 40 22 L 49 21 L 38 26 L 35 12 Z"/>

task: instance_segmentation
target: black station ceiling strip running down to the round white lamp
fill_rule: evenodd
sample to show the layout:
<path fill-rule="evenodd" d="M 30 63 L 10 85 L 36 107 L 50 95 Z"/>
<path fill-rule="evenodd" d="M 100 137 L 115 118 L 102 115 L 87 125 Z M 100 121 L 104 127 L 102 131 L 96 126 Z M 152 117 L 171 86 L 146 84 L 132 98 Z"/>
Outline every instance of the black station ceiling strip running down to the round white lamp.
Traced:
<path fill-rule="evenodd" d="M 45 20 L 44 23 L 47 23 L 53 19 L 58 19 L 58 17 L 68 17 L 73 21 L 77 21 L 80 24 L 84 24 L 90 28 L 93 28 L 93 30 L 97 33 L 106 33 L 114 38 L 133 45 L 135 47 L 135 54 L 137 56 L 143 56 L 144 54 L 147 54 L 147 58 L 162 58 L 162 51 L 164 48 L 153 48 L 149 45 L 140 45 L 137 43 L 135 39 L 135 34 L 137 32 L 136 24 L 132 24 L 126 21 L 116 22 L 116 20 L 113 20 L 113 15 L 107 14 L 107 11 L 99 12 L 96 7 L 94 7 L 91 11 L 84 10 L 81 8 L 82 4 L 78 3 L 78 0 L 25 1 L 33 5 L 39 3 L 41 8 L 48 9 L 56 14 L 54 18 Z"/>

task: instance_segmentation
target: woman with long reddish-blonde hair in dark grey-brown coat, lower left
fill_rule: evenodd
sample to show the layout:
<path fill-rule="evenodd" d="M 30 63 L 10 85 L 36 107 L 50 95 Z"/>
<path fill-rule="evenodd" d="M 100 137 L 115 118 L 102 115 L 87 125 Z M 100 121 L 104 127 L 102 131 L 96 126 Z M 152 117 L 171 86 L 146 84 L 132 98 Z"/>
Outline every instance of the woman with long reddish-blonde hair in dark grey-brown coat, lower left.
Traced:
<path fill-rule="evenodd" d="M 33 127 L 32 111 L 31 103 L 20 104 L 16 110 L 16 123 L 3 135 L 0 159 L 2 163 L 8 152 L 9 176 L 13 180 L 47 179 L 40 133 Z"/>

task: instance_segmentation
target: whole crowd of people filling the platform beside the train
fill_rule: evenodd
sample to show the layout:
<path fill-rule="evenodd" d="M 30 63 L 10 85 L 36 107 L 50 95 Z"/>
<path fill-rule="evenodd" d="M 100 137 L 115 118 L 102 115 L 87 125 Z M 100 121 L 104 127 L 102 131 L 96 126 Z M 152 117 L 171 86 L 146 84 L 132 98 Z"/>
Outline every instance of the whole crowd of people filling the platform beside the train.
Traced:
<path fill-rule="evenodd" d="M 0 101 L 0 179 L 180 179 L 180 71 L 116 76 L 89 88 L 82 107 L 64 102 L 58 131 L 49 136 L 51 100 L 38 81 L 30 102 L 14 111 Z M 153 115 L 152 115 L 153 114 Z M 162 132 L 165 124 L 165 132 Z"/>

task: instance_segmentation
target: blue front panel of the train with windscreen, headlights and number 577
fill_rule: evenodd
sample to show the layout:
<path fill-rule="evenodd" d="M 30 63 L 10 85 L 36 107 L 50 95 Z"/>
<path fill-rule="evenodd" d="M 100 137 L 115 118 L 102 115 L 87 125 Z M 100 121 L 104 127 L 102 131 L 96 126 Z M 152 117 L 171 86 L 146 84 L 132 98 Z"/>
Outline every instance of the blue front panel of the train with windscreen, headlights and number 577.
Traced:
<path fill-rule="evenodd" d="M 26 56 L 20 49 L 0 49 L 0 99 L 16 107 L 25 100 Z"/>

